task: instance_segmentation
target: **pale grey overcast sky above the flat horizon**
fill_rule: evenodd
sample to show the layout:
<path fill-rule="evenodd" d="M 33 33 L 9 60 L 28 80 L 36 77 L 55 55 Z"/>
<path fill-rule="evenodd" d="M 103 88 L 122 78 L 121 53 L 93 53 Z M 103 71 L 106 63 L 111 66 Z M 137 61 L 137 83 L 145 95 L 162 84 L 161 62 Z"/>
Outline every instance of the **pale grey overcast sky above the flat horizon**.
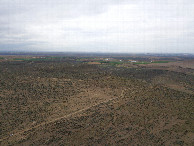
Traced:
<path fill-rule="evenodd" d="M 0 0 L 0 51 L 194 53 L 194 0 Z"/>

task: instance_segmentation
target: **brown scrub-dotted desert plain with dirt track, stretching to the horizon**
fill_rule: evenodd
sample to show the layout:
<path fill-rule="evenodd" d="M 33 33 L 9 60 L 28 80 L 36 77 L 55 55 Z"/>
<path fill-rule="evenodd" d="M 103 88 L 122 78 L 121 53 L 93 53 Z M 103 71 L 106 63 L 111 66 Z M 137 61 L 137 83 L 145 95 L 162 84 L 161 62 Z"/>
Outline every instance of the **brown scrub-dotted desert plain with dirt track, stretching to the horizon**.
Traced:
<path fill-rule="evenodd" d="M 193 145 L 194 56 L 1 55 L 0 145 Z"/>

